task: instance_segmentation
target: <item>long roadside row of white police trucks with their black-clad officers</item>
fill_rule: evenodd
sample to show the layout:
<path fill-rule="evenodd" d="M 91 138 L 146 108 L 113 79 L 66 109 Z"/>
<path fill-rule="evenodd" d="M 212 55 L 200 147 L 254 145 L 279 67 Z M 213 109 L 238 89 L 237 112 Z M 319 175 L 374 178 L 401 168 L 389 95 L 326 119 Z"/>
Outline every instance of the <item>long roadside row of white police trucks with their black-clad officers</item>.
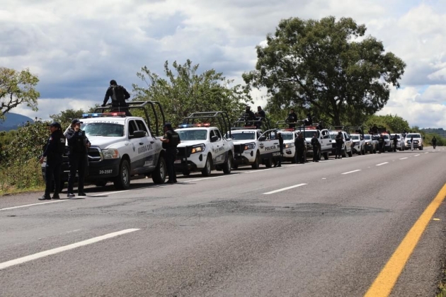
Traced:
<path fill-rule="evenodd" d="M 107 105 L 109 98 L 112 98 L 111 106 Z M 183 175 L 198 170 L 208 176 L 212 169 L 228 174 L 231 168 L 238 165 L 258 168 L 261 163 L 266 167 L 274 163 L 274 167 L 281 167 L 282 161 L 303 164 L 307 161 L 307 152 L 313 156 L 313 162 L 319 162 L 321 155 L 327 160 L 329 153 L 333 153 L 335 159 L 341 159 L 346 153 L 351 156 L 353 150 L 365 154 L 397 149 L 404 151 L 407 147 L 423 149 L 421 134 L 406 131 L 404 134 L 390 134 L 387 129 L 378 128 L 375 124 L 369 129 L 370 134 L 362 134 L 361 128 L 355 130 L 357 134 L 350 135 L 343 128 L 322 129 L 319 124 L 313 125 L 312 116 L 307 113 L 307 119 L 301 121 L 304 125 L 296 127 L 297 115 L 292 109 L 287 119 L 282 121 L 288 125 L 287 129 L 263 132 L 261 127 L 268 119 L 261 106 L 258 106 L 256 114 L 246 106 L 239 119 L 245 126 L 231 129 L 226 126 L 224 129 L 227 133 L 224 135 L 219 128 L 201 122 L 183 122 L 179 129 L 173 129 L 170 123 L 164 124 L 163 114 L 164 136 L 156 138 L 151 134 L 149 124 L 141 117 L 130 115 L 129 109 L 133 107 L 125 102 L 128 98 L 130 94 L 125 88 L 112 80 L 101 105 L 102 110 L 111 108 L 112 112 L 85 114 L 82 120 L 72 121 L 65 135 L 59 123 L 49 124 L 51 136 L 39 160 L 46 186 L 40 200 L 59 199 L 61 186 L 66 180 L 67 196 L 74 197 L 74 182 L 78 183 L 77 194 L 86 195 L 86 178 L 96 185 L 105 185 L 112 180 L 117 188 L 125 189 L 130 185 L 130 176 L 136 174 L 151 175 L 156 183 L 164 183 L 168 176 L 167 183 L 176 183 L 177 170 Z M 116 107 L 118 110 L 122 107 L 122 110 L 116 112 Z M 160 108 L 162 110 L 161 105 Z M 229 122 L 224 112 L 197 112 L 185 120 L 193 122 L 200 117 L 220 117 L 226 124 Z M 156 122 L 155 126 L 158 124 Z M 89 140 L 91 137 L 94 139 L 92 142 Z M 436 142 L 434 137 L 434 148 Z M 61 171 L 66 144 L 69 148 L 68 170 Z M 240 151 L 241 147 L 243 150 Z M 127 148 L 131 148 L 133 153 Z M 113 162 L 106 162 L 108 160 Z M 68 177 L 64 177 L 65 173 L 68 173 Z M 55 190 L 51 198 L 53 185 Z"/>

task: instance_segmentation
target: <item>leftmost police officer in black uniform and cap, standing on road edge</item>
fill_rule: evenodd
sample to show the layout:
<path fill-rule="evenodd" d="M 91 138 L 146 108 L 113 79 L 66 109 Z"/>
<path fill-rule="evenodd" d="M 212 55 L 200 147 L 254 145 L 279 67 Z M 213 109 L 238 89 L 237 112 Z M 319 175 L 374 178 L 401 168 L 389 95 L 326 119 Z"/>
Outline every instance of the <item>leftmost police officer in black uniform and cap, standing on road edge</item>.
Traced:
<path fill-rule="evenodd" d="M 42 164 L 44 158 L 47 158 L 47 164 L 45 165 L 45 194 L 39 200 L 51 199 L 51 182 L 53 180 L 55 182 L 55 193 L 52 195 L 52 199 L 60 199 L 60 170 L 62 168 L 62 153 L 64 153 L 65 148 L 65 136 L 58 122 L 50 124 L 50 132 L 51 136 L 39 160 L 40 164 Z"/>

